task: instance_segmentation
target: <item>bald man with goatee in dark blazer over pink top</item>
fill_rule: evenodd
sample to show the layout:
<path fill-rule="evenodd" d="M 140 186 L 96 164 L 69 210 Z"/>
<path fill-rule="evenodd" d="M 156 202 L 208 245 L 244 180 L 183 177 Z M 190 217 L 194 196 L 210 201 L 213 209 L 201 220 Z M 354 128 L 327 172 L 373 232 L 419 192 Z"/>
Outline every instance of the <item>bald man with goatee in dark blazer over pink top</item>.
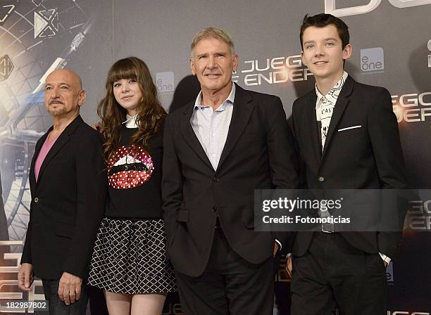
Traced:
<path fill-rule="evenodd" d="M 53 126 L 37 141 L 30 167 L 32 203 L 18 286 L 30 291 L 33 276 L 41 278 L 50 314 L 85 314 L 87 266 L 104 212 L 101 139 L 80 117 L 84 102 L 75 72 L 46 77 Z"/>

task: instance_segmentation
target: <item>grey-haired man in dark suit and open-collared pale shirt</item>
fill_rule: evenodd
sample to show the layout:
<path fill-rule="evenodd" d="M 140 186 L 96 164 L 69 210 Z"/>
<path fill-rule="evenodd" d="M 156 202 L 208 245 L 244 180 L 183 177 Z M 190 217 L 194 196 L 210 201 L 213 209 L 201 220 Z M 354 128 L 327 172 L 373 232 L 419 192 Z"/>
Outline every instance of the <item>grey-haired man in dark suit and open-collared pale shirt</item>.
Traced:
<path fill-rule="evenodd" d="M 254 231 L 254 189 L 296 188 L 280 98 L 232 83 L 232 38 L 208 27 L 191 45 L 196 101 L 168 115 L 163 210 L 187 315 L 273 314 L 273 255 L 284 234 Z"/>

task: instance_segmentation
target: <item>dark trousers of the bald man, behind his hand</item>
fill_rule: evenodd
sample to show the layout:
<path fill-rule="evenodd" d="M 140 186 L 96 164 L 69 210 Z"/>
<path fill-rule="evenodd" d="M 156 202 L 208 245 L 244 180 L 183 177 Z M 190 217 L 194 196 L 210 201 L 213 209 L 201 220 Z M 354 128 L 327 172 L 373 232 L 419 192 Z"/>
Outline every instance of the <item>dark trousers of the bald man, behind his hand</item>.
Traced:
<path fill-rule="evenodd" d="M 80 300 L 75 303 L 66 305 L 58 297 L 59 280 L 42 279 L 44 286 L 44 295 L 49 303 L 49 315 L 85 315 L 87 310 L 88 293 L 87 285 L 82 284 Z"/>

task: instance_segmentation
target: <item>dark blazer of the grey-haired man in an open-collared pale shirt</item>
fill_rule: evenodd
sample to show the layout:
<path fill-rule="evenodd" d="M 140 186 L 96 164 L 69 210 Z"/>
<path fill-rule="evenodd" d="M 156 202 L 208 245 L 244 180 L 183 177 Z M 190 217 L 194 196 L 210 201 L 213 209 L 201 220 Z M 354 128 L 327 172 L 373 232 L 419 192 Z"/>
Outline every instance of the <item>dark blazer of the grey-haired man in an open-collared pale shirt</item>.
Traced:
<path fill-rule="evenodd" d="M 216 217 L 231 248 L 251 263 L 273 253 L 274 238 L 254 231 L 254 189 L 295 188 L 292 134 L 280 98 L 236 86 L 227 140 L 217 170 L 190 124 L 194 102 L 168 115 L 163 143 L 163 210 L 168 255 L 177 271 L 199 276 L 213 243 Z"/>

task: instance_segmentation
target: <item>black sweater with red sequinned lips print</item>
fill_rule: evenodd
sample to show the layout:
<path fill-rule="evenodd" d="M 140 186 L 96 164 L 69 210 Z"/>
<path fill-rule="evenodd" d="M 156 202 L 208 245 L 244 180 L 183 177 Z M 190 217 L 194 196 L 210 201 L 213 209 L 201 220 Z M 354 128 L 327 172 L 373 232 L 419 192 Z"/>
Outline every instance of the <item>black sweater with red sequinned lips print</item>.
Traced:
<path fill-rule="evenodd" d="M 162 219 L 163 131 L 149 146 L 130 145 L 137 128 L 121 128 L 120 143 L 108 160 L 106 217 Z"/>

